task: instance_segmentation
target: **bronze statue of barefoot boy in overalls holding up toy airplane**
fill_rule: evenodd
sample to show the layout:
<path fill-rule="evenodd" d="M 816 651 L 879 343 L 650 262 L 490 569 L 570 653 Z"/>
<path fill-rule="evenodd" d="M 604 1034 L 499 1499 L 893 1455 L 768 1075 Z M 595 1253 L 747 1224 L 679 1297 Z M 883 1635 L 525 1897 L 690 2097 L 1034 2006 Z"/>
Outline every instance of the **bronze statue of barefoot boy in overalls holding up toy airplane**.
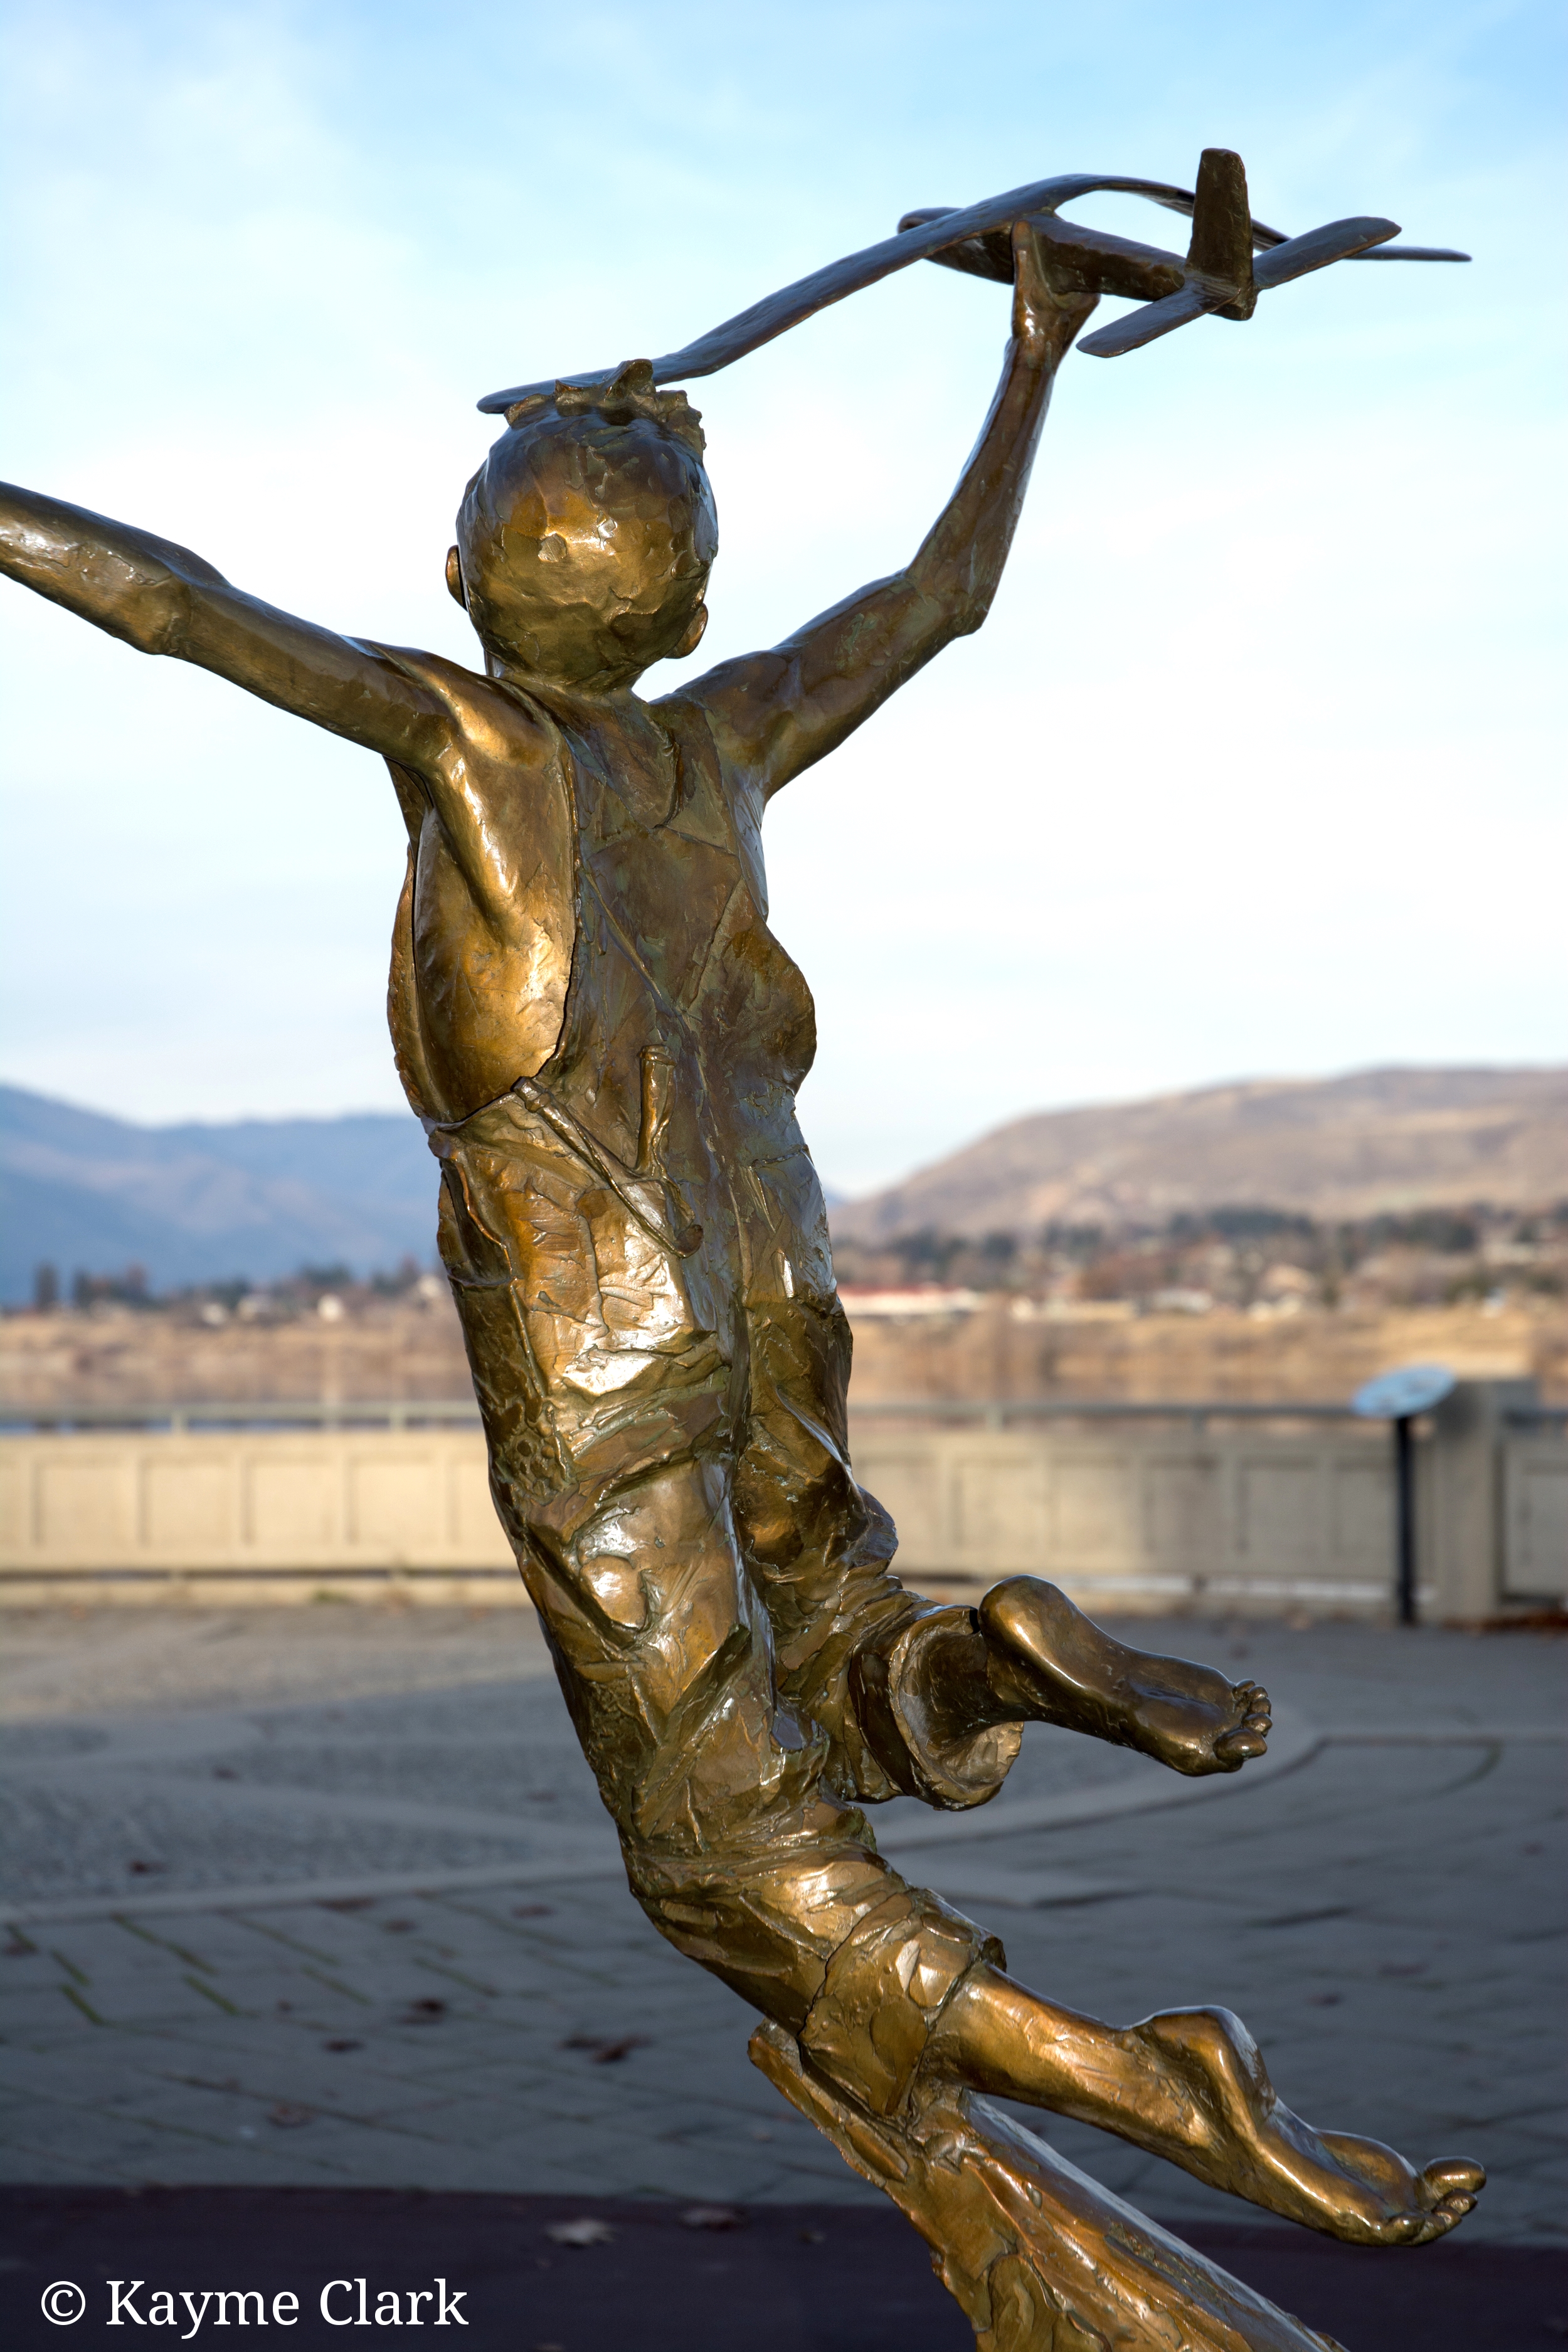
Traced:
<path fill-rule="evenodd" d="M 1051 1585 L 959 1609 L 891 1573 L 893 1526 L 849 1461 L 849 1327 L 795 1122 L 811 995 L 766 927 L 759 842 L 776 790 L 985 619 L 1093 289 L 1246 315 L 1251 245 L 1288 247 L 1248 221 L 1232 162 L 1206 158 L 1185 263 L 1063 245 L 1041 188 L 945 216 L 945 259 L 1016 280 L 945 513 L 893 579 L 661 701 L 637 680 L 696 647 L 717 550 L 701 426 L 658 390 L 665 365 L 498 395 L 508 430 L 449 557 L 482 670 L 313 628 L 52 499 L 0 506 L 14 579 L 388 762 L 409 830 L 397 1068 L 442 1169 L 496 1508 L 632 1893 L 762 2011 L 757 2063 L 910 2213 L 994 2352 L 1324 2338 L 976 2093 L 1366 2246 L 1441 2237 L 1483 2178 L 1302 2124 L 1222 2009 L 1110 2027 L 1030 1992 L 994 1936 L 882 1860 L 863 1811 L 983 1804 L 1027 1722 L 1182 1773 L 1237 1771 L 1269 1729 L 1255 1684 L 1126 1649 Z M 1145 183 L 1044 183 L 1086 186 Z M 1321 235 L 1352 252 L 1389 233 L 1349 228 Z M 936 228 L 910 235 L 943 252 Z M 771 332 L 731 334 L 729 355 Z"/>

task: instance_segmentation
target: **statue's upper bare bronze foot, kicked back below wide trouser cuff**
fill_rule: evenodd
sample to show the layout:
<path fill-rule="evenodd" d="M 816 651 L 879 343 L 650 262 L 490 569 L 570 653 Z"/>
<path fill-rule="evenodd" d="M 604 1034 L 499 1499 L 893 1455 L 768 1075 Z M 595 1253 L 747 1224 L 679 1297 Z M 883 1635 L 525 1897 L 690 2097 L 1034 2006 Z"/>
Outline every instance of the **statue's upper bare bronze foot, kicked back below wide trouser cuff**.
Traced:
<path fill-rule="evenodd" d="M 1171 1771 L 1239 1771 L 1269 1738 L 1269 1693 L 1211 1665 L 1128 1649 L 1037 1576 L 980 1602 L 990 1684 L 1023 1719 L 1140 1748 Z"/>

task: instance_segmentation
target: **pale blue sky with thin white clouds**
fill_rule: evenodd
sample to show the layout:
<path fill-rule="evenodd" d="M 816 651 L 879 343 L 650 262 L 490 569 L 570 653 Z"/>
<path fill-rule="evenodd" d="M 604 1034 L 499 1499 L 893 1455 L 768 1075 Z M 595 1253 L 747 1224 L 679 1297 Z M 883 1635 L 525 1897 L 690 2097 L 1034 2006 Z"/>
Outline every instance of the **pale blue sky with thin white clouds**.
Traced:
<path fill-rule="evenodd" d="M 0 66 L 2 470 L 458 659 L 480 393 L 679 346 L 914 205 L 1220 143 L 1286 230 L 1467 247 L 1072 358 L 990 626 L 776 802 L 773 927 L 844 1190 L 1056 1103 L 1568 1056 L 1556 9 L 52 0 Z M 1004 334 L 922 266 L 693 386 L 696 668 L 912 553 Z M 148 1120 L 395 1103 L 383 769 L 0 614 L 5 1075 Z"/>

